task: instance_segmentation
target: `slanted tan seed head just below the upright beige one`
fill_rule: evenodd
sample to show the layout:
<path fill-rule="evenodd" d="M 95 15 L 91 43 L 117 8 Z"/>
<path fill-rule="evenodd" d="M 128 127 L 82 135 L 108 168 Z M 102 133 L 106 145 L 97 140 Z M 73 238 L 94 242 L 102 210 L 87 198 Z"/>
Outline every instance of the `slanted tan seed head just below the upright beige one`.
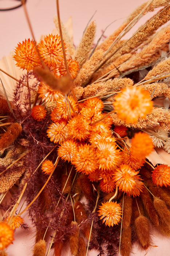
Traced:
<path fill-rule="evenodd" d="M 80 69 L 77 77 L 74 80 L 74 87 L 76 86 L 86 86 L 90 82 L 93 71 L 103 57 L 103 50 L 96 50 L 89 60 L 84 63 L 83 67 Z"/>

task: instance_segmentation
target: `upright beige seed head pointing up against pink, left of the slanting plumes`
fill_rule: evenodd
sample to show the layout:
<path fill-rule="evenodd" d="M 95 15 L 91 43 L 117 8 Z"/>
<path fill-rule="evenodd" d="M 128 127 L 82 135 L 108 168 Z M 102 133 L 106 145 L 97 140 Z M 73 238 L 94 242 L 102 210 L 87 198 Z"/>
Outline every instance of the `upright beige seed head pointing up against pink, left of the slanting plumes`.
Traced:
<path fill-rule="evenodd" d="M 87 60 L 88 54 L 91 50 L 96 32 L 96 24 L 94 21 L 90 23 L 83 34 L 82 40 L 75 51 L 74 59 L 78 62 L 79 68 Z"/>

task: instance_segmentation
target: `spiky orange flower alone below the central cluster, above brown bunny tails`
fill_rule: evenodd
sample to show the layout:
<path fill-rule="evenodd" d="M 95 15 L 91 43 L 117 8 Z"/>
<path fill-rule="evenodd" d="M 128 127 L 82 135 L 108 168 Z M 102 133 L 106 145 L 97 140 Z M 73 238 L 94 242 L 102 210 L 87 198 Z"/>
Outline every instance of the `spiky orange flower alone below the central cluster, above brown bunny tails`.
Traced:
<path fill-rule="evenodd" d="M 117 225 L 122 219 L 122 208 L 117 202 L 102 203 L 102 206 L 99 206 L 98 212 L 98 215 L 101 216 L 100 219 L 103 219 L 102 223 L 105 222 L 105 225 L 109 227 Z"/>

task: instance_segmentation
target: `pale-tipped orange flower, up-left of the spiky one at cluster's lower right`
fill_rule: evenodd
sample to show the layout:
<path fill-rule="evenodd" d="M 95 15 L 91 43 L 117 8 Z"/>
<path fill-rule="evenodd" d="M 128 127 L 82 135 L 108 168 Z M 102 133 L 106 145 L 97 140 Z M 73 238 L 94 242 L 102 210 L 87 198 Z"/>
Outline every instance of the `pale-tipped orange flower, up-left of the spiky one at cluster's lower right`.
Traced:
<path fill-rule="evenodd" d="M 119 150 L 116 149 L 117 146 L 115 142 L 109 142 L 103 139 L 103 141 L 100 140 L 96 146 L 99 169 L 112 169 L 119 163 Z"/>

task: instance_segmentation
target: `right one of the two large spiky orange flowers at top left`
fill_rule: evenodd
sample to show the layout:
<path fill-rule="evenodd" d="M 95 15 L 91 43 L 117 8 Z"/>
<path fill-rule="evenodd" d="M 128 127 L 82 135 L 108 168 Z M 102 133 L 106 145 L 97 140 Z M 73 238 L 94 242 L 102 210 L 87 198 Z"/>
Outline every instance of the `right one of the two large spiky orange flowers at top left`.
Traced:
<path fill-rule="evenodd" d="M 56 67 L 63 63 L 62 43 L 59 35 L 49 34 L 44 37 L 38 44 L 39 52 L 44 62 L 52 67 Z M 66 50 L 66 43 L 64 42 Z"/>

